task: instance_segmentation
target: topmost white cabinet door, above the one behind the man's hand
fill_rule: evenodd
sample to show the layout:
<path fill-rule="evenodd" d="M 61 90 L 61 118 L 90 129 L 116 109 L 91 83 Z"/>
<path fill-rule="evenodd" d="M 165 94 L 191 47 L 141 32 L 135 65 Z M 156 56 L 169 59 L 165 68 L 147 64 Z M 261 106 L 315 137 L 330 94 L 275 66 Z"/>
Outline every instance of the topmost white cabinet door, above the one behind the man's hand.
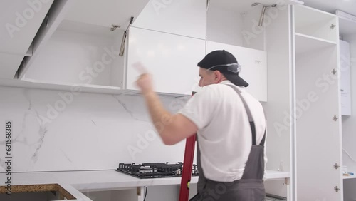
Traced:
<path fill-rule="evenodd" d="M 151 0 L 132 26 L 206 38 L 206 0 Z"/>

